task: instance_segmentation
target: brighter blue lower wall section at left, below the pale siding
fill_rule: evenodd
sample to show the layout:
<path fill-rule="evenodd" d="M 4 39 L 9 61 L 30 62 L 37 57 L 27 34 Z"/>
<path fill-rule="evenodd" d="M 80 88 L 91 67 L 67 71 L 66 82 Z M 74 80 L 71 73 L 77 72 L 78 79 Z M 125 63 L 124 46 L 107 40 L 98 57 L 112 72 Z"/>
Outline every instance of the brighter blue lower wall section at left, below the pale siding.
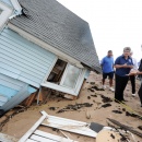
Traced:
<path fill-rule="evenodd" d="M 24 92 L 26 92 L 26 94 L 24 96 L 24 94 L 22 94 L 21 92 L 25 86 L 26 90 L 24 90 Z M 8 106 L 10 106 L 11 99 L 14 100 L 12 103 L 13 105 L 17 105 L 17 99 L 21 103 L 24 98 L 26 98 L 29 94 L 34 92 L 36 92 L 36 90 L 28 84 L 7 76 L 4 74 L 0 74 L 0 109 L 1 106 L 5 104 L 9 104 Z"/>

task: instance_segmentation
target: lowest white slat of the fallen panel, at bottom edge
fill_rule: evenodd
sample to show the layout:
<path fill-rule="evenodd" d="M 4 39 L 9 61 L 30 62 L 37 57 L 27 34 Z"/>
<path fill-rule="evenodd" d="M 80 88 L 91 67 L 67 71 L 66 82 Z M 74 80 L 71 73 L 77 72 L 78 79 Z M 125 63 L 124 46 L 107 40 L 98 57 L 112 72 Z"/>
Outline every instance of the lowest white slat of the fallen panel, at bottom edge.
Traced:
<path fill-rule="evenodd" d="M 40 135 L 40 137 L 45 137 L 45 138 L 48 138 L 48 139 L 51 139 L 51 140 L 59 141 L 59 142 L 78 142 L 78 141 L 69 140 L 67 138 L 55 135 L 55 134 L 51 134 L 51 133 L 48 133 L 48 132 L 44 132 L 44 131 L 40 131 L 40 130 L 36 130 L 34 133 L 37 134 L 37 135 Z"/>

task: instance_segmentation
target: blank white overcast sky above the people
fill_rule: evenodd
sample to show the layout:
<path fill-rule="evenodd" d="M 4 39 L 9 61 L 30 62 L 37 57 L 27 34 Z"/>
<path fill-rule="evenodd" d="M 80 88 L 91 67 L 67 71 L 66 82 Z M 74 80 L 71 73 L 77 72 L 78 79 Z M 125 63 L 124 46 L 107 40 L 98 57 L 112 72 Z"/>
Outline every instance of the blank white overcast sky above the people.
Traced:
<path fill-rule="evenodd" d="M 117 58 L 129 46 L 142 58 L 142 0 L 57 0 L 85 20 L 99 59 L 108 50 Z"/>

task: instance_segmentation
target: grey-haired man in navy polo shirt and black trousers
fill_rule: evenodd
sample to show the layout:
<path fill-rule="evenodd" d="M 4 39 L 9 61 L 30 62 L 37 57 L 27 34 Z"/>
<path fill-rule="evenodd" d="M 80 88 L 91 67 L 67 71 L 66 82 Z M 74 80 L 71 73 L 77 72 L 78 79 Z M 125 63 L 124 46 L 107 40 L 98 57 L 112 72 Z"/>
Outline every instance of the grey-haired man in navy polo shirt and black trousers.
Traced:
<path fill-rule="evenodd" d="M 133 68 L 132 59 L 130 57 L 130 47 L 123 48 L 123 55 L 119 56 L 115 61 L 116 68 L 116 88 L 115 88 L 115 100 L 117 103 L 123 102 L 123 91 L 129 80 L 129 72 Z"/>

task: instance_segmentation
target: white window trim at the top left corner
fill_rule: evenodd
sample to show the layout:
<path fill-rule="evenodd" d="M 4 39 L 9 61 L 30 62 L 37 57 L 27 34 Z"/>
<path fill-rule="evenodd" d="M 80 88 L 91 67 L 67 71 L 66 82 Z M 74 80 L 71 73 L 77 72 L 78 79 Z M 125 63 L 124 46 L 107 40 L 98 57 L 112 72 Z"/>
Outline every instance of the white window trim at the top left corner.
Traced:
<path fill-rule="evenodd" d="M 13 9 L 4 4 L 3 2 L 0 1 L 0 9 L 2 10 L 0 14 L 0 29 L 3 28 L 4 24 L 11 16 Z"/>

